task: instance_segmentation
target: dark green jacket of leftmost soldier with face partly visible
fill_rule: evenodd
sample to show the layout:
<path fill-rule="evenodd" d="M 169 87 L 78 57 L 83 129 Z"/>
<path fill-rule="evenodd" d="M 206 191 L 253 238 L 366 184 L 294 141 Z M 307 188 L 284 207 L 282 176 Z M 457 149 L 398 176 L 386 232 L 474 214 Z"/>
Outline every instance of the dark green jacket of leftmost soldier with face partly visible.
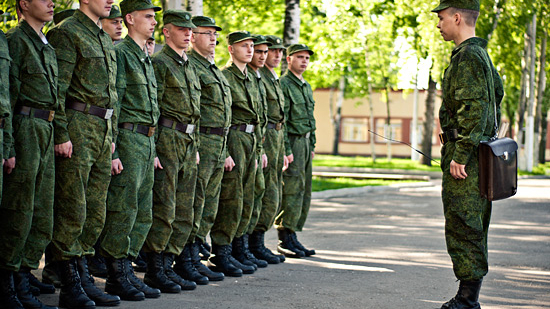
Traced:
<path fill-rule="evenodd" d="M 25 21 L 6 34 L 12 63 L 10 66 L 10 102 L 16 106 L 29 106 L 57 111 L 57 60 L 55 50 L 44 44 L 36 31 Z M 54 118 L 55 119 L 55 118 Z M 9 122 L 6 131 L 11 129 Z M 15 156 L 13 140 L 4 141 Z"/>

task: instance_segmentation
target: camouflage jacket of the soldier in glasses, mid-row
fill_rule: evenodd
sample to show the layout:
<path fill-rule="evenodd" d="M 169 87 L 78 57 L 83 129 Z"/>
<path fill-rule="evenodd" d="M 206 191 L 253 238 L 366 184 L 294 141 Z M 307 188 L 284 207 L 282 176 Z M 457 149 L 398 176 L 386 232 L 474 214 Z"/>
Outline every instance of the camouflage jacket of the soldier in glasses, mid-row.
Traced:
<path fill-rule="evenodd" d="M 192 50 L 189 61 L 200 82 L 200 125 L 227 128 L 231 125 L 231 90 L 218 67 Z"/>

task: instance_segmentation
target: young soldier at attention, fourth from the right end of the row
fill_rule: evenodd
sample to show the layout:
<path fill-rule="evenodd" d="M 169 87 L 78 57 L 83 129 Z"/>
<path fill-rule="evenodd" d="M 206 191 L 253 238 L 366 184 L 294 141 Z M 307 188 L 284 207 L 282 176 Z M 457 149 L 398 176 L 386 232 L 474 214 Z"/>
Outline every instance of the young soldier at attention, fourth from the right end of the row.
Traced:
<path fill-rule="evenodd" d="M 256 149 L 261 142 L 256 138 L 260 129 L 259 89 L 256 77 L 247 70 L 254 41 L 248 31 L 230 33 L 227 43 L 231 60 L 222 70 L 231 87 L 232 112 L 218 214 L 210 231 L 215 255 L 210 262 L 226 275 L 237 275 L 235 267 L 245 274 L 256 270 L 256 264 L 246 257 L 243 237 L 254 207 Z"/>

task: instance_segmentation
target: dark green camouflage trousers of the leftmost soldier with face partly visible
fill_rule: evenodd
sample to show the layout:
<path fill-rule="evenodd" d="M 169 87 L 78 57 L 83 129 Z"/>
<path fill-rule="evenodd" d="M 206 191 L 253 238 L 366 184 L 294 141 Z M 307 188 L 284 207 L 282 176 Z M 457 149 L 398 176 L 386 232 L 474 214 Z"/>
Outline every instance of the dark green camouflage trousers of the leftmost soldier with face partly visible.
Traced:
<path fill-rule="evenodd" d="M 0 206 L 0 268 L 37 269 L 53 229 L 53 125 L 15 115 L 15 169 L 4 175 Z"/>

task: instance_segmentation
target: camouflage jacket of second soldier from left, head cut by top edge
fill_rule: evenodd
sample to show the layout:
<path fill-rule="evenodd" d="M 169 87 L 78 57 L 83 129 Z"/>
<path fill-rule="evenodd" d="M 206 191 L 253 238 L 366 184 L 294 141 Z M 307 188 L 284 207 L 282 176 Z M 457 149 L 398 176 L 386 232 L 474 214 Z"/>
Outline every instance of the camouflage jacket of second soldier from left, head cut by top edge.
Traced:
<path fill-rule="evenodd" d="M 116 56 L 111 37 L 80 10 L 51 29 L 47 37 L 55 48 L 59 68 L 59 110 L 54 127 L 55 143 L 61 144 L 70 139 L 66 102 L 115 107 Z M 116 115 L 112 123 L 116 123 Z"/>

